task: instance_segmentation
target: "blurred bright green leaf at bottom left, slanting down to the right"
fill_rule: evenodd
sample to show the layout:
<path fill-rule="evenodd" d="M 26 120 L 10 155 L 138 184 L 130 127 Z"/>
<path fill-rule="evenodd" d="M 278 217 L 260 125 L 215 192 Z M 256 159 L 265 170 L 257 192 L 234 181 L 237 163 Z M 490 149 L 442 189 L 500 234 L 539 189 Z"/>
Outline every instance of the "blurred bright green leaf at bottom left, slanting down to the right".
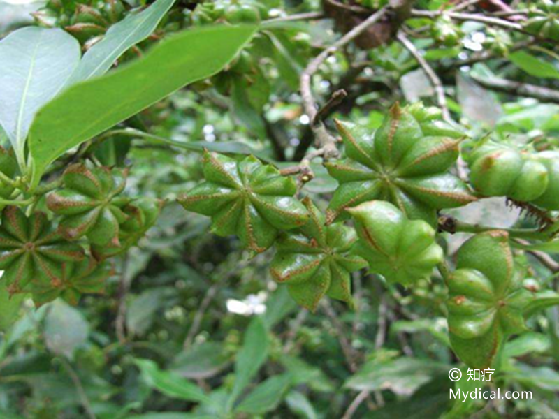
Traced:
<path fill-rule="evenodd" d="M 140 368 L 145 383 L 167 397 L 189 402 L 208 402 L 210 400 L 198 385 L 172 372 L 161 371 L 155 362 L 140 359 L 136 359 L 135 362 Z"/>

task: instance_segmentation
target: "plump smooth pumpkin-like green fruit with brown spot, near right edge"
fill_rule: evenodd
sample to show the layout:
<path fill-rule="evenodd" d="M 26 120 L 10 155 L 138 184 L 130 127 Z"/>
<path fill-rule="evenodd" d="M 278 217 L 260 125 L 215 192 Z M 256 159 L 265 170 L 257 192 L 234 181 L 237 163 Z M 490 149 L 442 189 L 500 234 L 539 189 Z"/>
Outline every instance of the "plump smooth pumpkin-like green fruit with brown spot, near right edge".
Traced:
<path fill-rule="evenodd" d="M 470 168 L 470 182 L 484 196 L 531 201 L 549 184 L 548 171 L 535 156 L 495 142 L 474 150 Z"/>

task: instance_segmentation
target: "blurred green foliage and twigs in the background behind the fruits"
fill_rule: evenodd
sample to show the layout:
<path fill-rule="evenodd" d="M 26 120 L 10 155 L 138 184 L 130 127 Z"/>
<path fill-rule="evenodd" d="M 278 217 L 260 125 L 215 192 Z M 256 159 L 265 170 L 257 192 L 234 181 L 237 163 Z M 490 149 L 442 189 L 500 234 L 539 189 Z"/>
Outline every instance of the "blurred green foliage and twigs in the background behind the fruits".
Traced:
<path fill-rule="evenodd" d="M 159 25 L 161 36 L 185 26 L 182 16 L 192 5 L 184 3 Z M 270 18 L 277 9 L 281 15 L 321 8 L 315 1 L 261 3 Z M 441 3 L 418 6 L 436 10 Z M 8 6 L 0 3 L 1 10 Z M 24 15 L 0 24 L 7 33 L 28 22 Z M 558 105 L 495 94 L 474 80 L 499 75 L 556 87 L 557 48 L 532 45 L 465 66 L 461 61 L 483 47 L 477 34 L 488 32 L 479 22 L 460 30 L 463 43 L 450 47 L 430 36 L 416 41 L 449 86 L 453 117 L 472 138 L 493 131 L 519 144 L 545 140 L 555 147 Z M 247 49 L 257 62 L 248 71 L 227 68 L 212 84 L 181 89 L 92 143 L 87 151 L 101 163 L 131 166 L 131 193 L 168 204 L 139 246 L 115 260 L 105 295 L 84 297 L 78 307 L 57 300 L 35 309 L 19 296 L 8 300 L 0 288 L 0 418 L 559 417 L 557 307 L 533 317 L 532 331 L 511 339 L 502 354 L 498 385 L 530 390 L 532 399 L 453 401 L 449 389 L 483 383 L 449 381 L 453 367 L 466 374 L 449 348 L 447 291 L 439 278 L 406 289 L 355 272 L 355 309 L 331 300 L 311 313 L 270 278 L 270 251 L 249 259 L 238 240 L 208 234 L 207 218 L 176 203 L 203 179 L 201 141 L 219 152 L 252 152 L 280 168 L 302 159 L 312 133 L 298 75 L 336 36 L 331 20 L 264 24 Z M 436 105 L 416 61 L 398 43 L 370 52 L 349 47 L 320 74 L 317 94 L 337 87 L 349 93 L 335 116 L 371 129 L 395 101 Z M 336 182 L 321 166 L 312 168 L 316 178 L 304 191 L 324 210 Z M 535 226 L 500 198 L 451 214 L 502 228 Z M 464 237 L 445 235 L 440 244 L 453 255 Z M 557 272 L 528 253 L 522 257 L 531 278 L 557 290 Z M 3 314 L 12 316 L 11 307 L 21 307 L 13 324 Z"/>

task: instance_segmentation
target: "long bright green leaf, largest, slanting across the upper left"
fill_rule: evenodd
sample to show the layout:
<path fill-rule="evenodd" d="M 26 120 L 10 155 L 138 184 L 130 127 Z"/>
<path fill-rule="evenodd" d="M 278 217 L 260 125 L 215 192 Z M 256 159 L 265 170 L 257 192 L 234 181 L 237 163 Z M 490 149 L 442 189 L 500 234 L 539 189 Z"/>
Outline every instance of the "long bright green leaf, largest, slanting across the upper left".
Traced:
<path fill-rule="evenodd" d="M 31 126 L 32 185 L 72 147 L 106 131 L 184 85 L 220 71 L 256 27 L 216 26 L 184 31 L 142 59 L 75 84 L 42 108 Z"/>

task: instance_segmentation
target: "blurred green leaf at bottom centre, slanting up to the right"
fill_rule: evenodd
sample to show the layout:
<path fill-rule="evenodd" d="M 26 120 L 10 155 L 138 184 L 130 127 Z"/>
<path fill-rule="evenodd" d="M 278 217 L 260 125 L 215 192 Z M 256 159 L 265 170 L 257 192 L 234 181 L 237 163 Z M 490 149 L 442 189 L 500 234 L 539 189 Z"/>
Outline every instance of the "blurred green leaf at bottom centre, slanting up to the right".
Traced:
<path fill-rule="evenodd" d="M 235 411 L 259 415 L 277 407 L 289 386 L 289 375 L 268 378 L 240 402 Z"/>

